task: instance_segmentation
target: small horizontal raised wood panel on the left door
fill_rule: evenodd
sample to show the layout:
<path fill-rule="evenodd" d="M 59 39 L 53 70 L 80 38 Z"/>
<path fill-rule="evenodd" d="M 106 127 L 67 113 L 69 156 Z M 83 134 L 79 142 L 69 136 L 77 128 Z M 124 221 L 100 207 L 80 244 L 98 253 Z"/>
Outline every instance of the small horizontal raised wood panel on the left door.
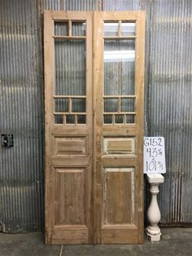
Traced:
<path fill-rule="evenodd" d="M 55 156 L 82 156 L 86 155 L 86 137 L 54 137 Z"/>

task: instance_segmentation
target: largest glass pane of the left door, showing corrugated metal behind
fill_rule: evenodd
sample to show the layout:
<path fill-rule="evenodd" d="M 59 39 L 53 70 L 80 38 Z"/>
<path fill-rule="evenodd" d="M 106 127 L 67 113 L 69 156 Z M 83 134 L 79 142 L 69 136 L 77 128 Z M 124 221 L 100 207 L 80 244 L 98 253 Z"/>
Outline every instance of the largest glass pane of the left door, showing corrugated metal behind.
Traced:
<path fill-rule="evenodd" d="M 85 40 L 55 40 L 55 95 L 85 95 Z"/>

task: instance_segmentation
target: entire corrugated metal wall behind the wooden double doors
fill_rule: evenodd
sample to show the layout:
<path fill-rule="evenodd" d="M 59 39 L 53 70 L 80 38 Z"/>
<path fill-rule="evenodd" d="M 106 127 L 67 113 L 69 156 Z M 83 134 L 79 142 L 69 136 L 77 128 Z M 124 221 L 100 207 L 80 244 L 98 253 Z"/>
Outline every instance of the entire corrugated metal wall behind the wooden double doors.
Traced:
<path fill-rule="evenodd" d="M 44 227 L 42 13 L 146 10 L 146 135 L 166 142 L 162 223 L 192 223 L 192 2 L 2 0 L 0 2 L 0 222 L 3 232 Z M 146 193 L 147 194 L 147 193 Z M 148 195 L 147 195 L 148 196 Z M 147 205 L 147 200 L 146 200 Z"/>

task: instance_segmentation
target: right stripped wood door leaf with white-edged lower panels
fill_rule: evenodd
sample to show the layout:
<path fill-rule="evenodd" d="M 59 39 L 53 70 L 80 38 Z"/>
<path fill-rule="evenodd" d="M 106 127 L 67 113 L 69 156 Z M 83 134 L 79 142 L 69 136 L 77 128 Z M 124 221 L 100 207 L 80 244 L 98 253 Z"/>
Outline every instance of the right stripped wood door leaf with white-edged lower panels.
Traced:
<path fill-rule="evenodd" d="M 94 14 L 94 241 L 142 243 L 144 13 Z"/>

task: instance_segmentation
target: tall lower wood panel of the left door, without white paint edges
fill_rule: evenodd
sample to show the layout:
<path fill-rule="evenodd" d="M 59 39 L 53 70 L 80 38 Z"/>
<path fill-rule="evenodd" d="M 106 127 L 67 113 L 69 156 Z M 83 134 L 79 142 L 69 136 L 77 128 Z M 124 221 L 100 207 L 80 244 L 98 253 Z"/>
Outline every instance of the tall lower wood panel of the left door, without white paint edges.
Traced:
<path fill-rule="evenodd" d="M 55 225 L 83 225 L 86 214 L 85 169 L 55 169 Z"/>

